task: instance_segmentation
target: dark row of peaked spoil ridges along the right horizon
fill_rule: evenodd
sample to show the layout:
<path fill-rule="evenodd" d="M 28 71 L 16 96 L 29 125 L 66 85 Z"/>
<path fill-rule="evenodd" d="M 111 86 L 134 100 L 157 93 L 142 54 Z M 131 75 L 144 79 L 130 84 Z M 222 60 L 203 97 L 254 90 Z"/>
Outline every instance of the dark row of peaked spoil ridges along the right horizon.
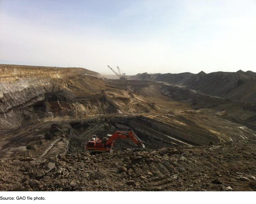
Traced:
<path fill-rule="evenodd" d="M 256 73 L 243 72 L 212 72 L 198 74 L 189 72 L 180 74 L 137 74 L 131 79 L 167 82 L 173 85 L 185 86 L 188 89 L 225 98 L 256 103 Z"/>

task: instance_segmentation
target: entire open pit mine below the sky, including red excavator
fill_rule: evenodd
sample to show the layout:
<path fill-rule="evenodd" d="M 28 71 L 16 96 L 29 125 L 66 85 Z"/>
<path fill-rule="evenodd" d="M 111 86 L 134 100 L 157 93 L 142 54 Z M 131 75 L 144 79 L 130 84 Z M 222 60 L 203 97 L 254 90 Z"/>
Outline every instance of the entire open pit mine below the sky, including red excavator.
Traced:
<path fill-rule="evenodd" d="M 252 73 L 0 65 L 0 190 L 255 191 Z"/>

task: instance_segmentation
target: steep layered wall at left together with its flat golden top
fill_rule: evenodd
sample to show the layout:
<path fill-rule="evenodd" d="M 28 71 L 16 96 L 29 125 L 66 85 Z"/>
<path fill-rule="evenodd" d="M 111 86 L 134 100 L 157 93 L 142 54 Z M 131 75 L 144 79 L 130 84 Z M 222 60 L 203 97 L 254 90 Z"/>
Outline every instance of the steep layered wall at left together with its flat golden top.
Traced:
<path fill-rule="evenodd" d="M 40 117 L 38 102 L 61 90 L 68 78 L 97 74 L 82 68 L 0 65 L 0 133 Z"/>

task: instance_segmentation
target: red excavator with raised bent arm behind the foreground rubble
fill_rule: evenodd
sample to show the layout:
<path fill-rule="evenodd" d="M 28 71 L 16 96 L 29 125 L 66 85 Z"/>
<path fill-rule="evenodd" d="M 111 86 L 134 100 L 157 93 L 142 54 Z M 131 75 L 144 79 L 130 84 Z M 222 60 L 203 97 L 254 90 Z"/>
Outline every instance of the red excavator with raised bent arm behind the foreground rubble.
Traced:
<path fill-rule="evenodd" d="M 86 149 L 92 152 L 112 152 L 112 147 L 115 141 L 119 138 L 132 139 L 132 141 L 134 141 L 141 148 L 145 148 L 145 145 L 133 131 L 116 131 L 113 135 L 103 137 L 102 140 L 96 135 L 93 135 L 91 140 L 87 142 Z"/>

